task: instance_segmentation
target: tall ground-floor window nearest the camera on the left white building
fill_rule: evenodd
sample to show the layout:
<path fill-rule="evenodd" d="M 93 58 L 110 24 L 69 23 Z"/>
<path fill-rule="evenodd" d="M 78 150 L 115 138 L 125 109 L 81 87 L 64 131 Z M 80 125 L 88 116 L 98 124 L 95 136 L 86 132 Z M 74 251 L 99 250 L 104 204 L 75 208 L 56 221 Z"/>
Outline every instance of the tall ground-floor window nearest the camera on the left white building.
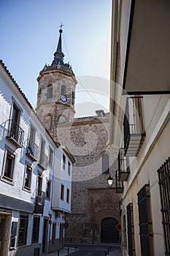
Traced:
<path fill-rule="evenodd" d="M 20 215 L 20 227 L 18 230 L 18 246 L 26 244 L 28 230 L 28 216 Z"/>

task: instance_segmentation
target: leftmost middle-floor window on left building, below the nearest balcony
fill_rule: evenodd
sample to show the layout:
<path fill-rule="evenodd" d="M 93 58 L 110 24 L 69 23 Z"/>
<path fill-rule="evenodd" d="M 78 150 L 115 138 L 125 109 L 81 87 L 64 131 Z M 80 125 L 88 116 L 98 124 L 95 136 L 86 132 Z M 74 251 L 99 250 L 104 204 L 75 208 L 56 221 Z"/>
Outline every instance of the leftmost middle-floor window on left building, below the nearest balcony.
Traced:
<path fill-rule="evenodd" d="M 14 171 L 15 155 L 7 151 L 7 157 L 4 167 L 4 178 L 12 180 Z"/>

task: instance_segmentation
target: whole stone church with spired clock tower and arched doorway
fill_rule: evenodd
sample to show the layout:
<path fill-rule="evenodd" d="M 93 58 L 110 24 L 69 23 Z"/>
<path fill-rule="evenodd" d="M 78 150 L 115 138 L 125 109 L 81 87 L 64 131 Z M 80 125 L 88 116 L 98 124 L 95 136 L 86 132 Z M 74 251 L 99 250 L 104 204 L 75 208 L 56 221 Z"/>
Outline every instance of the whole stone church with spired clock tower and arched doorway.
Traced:
<path fill-rule="evenodd" d="M 77 80 L 64 63 L 62 29 L 51 65 L 39 72 L 36 114 L 55 143 L 75 159 L 72 168 L 72 209 L 66 215 L 65 241 L 120 241 L 120 195 L 107 185 L 117 170 L 115 148 L 109 146 L 109 113 L 74 118 Z M 64 162 L 64 159 L 63 159 Z M 55 197 L 55 195 L 53 195 Z"/>

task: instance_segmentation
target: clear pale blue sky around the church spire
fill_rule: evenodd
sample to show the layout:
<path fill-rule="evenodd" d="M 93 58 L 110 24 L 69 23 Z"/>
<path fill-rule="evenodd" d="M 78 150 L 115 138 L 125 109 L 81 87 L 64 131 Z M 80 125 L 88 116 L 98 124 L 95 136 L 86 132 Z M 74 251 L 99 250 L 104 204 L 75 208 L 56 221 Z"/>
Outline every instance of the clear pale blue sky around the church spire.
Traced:
<path fill-rule="evenodd" d="M 0 0 L 0 59 L 35 107 L 36 78 L 53 61 L 61 22 L 64 61 L 80 81 L 77 116 L 108 110 L 111 0 Z"/>

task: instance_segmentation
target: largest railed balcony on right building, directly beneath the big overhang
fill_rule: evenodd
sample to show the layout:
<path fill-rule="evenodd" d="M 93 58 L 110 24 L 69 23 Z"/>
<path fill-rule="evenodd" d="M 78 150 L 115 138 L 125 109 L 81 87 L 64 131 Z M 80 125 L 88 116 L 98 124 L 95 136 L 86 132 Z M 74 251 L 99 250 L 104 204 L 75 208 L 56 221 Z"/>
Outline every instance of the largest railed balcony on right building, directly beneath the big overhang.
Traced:
<path fill-rule="evenodd" d="M 142 122 L 142 97 L 127 99 L 123 128 L 125 156 L 136 157 L 145 138 Z"/>

